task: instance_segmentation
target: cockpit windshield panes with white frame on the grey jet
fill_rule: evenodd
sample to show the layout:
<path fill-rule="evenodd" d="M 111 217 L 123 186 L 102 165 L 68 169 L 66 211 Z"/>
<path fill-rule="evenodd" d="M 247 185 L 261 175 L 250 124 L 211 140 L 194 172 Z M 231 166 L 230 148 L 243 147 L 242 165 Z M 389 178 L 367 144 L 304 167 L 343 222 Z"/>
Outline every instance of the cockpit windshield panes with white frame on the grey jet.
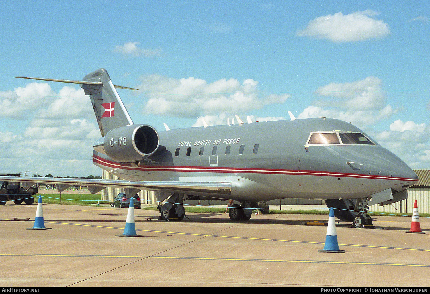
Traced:
<path fill-rule="evenodd" d="M 365 134 L 359 132 L 312 132 L 307 141 L 307 145 L 312 144 L 375 145 Z"/>

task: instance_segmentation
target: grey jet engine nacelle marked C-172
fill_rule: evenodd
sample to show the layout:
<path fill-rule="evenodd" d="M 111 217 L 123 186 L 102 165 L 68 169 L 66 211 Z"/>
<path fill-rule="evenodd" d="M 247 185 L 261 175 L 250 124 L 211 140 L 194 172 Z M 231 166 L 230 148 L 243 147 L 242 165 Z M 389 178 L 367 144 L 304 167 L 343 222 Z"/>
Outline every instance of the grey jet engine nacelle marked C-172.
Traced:
<path fill-rule="evenodd" d="M 154 154 L 159 145 L 152 126 L 136 124 L 110 130 L 93 147 L 116 162 L 136 162 Z"/>

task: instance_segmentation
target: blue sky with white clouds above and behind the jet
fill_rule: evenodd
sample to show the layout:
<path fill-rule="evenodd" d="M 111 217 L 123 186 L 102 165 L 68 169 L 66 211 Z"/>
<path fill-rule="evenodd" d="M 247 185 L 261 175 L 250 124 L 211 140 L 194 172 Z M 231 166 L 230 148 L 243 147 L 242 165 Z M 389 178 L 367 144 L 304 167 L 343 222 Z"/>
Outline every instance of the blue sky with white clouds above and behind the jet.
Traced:
<path fill-rule="evenodd" d="M 330 117 L 430 168 L 430 2 L 1 1 L 0 173 L 101 175 L 78 85 L 105 68 L 158 131 Z"/>

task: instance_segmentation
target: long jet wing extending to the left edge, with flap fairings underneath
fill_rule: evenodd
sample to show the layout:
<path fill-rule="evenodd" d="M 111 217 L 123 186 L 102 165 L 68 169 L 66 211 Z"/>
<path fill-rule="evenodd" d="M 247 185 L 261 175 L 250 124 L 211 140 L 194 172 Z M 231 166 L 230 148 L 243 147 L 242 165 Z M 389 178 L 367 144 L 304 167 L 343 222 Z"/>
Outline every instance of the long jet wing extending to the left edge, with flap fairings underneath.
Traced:
<path fill-rule="evenodd" d="M 230 182 L 183 182 L 183 181 L 124 181 L 124 180 L 98 180 L 86 178 L 41 178 L 41 177 L 15 177 L 0 176 L 0 181 L 21 182 L 27 189 L 34 184 L 55 184 L 58 191 L 64 191 L 71 186 L 88 186 L 91 193 L 95 194 L 106 187 L 130 188 L 138 190 L 163 191 L 169 193 L 209 196 L 231 194 Z M 227 197 L 226 197 L 227 198 Z"/>

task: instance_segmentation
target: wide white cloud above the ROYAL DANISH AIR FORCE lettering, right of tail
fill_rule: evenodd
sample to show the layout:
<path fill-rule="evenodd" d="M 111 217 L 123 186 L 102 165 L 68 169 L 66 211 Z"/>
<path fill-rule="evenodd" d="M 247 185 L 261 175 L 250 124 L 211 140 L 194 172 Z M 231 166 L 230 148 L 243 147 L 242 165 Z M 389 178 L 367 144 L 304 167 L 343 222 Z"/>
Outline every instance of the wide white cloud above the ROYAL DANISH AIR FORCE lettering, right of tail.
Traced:
<path fill-rule="evenodd" d="M 194 77 L 172 79 L 160 75 L 141 77 L 143 90 L 149 99 L 146 113 L 181 117 L 227 115 L 260 109 L 267 104 L 281 104 L 289 95 L 259 97 L 258 82 L 252 79 L 240 83 L 236 79 L 221 79 L 213 83 Z"/>

